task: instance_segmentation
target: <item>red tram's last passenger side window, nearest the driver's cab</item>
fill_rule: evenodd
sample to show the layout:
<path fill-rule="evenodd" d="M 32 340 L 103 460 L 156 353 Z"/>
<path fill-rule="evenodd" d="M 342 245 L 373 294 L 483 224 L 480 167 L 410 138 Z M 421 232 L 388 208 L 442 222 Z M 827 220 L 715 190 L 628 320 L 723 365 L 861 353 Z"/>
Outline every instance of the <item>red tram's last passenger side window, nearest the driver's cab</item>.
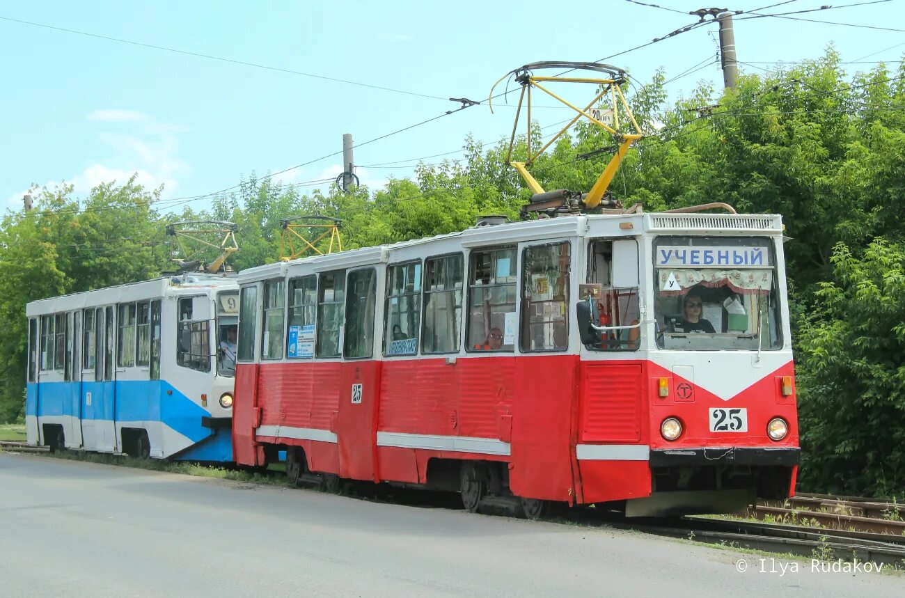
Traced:
<path fill-rule="evenodd" d="M 527 247 L 522 253 L 521 350 L 568 346 L 568 242 Z"/>

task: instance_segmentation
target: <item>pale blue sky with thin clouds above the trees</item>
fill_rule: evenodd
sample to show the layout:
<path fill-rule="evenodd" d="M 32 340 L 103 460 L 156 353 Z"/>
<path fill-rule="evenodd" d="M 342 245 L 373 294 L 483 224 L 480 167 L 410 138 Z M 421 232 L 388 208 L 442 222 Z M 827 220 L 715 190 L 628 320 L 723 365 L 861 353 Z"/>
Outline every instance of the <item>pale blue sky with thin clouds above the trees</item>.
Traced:
<path fill-rule="evenodd" d="M 754 10 L 780 0 L 733 0 Z M 843 0 L 836 6 L 865 0 Z M 694 0 L 651 0 L 673 11 Z M 763 11 L 817 8 L 795 0 Z M 905 2 L 798 14 L 802 18 L 905 29 Z M 309 162 L 445 110 L 447 98 L 483 100 L 501 75 L 527 62 L 595 61 L 650 42 L 697 19 L 625 0 L 597 3 L 472 2 L 41 2 L 5 3 L 0 17 L 196 52 L 278 69 L 358 81 L 436 98 L 377 90 L 284 71 L 167 52 L 0 19 L 0 202 L 20 209 L 31 185 L 92 185 L 138 173 L 163 197 L 209 194 L 241 176 Z M 647 81 L 658 67 L 673 98 L 697 81 L 722 84 L 717 25 L 710 24 L 610 61 Z M 834 43 L 843 61 L 899 61 L 905 33 L 757 18 L 735 24 L 742 71 L 819 57 Z M 894 46 L 894 47 L 893 47 Z M 892 67 L 898 66 L 891 64 Z M 851 71 L 872 64 L 851 64 Z M 512 97 L 514 101 L 516 96 Z M 539 102 L 538 102 L 539 103 Z M 550 104 L 551 102 L 545 102 Z M 508 136 L 514 110 L 476 106 L 358 147 L 358 176 L 372 188 L 412 173 L 415 158 L 452 152 L 472 134 Z M 542 126 L 567 109 L 538 109 Z M 443 157 L 425 159 L 433 163 Z M 405 161 L 388 166 L 388 162 Z M 305 184 L 340 172 L 341 156 L 276 176 Z M 300 185 L 301 190 L 310 186 Z M 190 202 L 196 208 L 205 199 Z M 181 209 L 181 208 L 180 208 Z"/>

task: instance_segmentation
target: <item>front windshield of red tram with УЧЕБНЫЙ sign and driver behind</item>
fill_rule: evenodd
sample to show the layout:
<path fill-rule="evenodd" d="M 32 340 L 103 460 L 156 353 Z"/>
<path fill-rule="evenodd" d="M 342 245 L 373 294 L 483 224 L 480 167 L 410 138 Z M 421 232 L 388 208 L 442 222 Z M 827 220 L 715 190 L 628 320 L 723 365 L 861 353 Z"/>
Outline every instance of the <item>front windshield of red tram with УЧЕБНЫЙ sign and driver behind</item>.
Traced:
<path fill-rule="evenodd" d="M 776 253 L 769 239 L 659 237 L 653 252 L 657 346 L 782 346 Z"/>

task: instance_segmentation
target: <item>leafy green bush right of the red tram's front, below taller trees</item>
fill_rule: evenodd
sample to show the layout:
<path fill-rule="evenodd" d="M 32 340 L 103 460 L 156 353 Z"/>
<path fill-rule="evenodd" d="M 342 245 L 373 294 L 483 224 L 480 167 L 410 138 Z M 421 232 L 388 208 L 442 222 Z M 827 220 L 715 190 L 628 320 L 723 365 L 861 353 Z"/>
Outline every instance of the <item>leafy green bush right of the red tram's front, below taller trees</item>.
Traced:
<path fill-rule="evenodd" d="M 905 488 L 905 248 L 836 246 L 799 345 L 802 481 L 843 494 Z"/>

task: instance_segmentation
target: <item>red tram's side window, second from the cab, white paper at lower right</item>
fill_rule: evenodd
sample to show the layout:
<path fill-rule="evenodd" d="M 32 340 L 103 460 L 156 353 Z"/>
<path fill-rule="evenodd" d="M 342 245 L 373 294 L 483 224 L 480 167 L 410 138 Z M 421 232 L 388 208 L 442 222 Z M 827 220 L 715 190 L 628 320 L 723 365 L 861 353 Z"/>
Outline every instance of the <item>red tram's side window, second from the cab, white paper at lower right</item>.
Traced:
<path fill-rule="evenodd" d="M 514 350 L 519 318 L 515 248 L 472 252 L 469 287 L 468 350 Z"/>

